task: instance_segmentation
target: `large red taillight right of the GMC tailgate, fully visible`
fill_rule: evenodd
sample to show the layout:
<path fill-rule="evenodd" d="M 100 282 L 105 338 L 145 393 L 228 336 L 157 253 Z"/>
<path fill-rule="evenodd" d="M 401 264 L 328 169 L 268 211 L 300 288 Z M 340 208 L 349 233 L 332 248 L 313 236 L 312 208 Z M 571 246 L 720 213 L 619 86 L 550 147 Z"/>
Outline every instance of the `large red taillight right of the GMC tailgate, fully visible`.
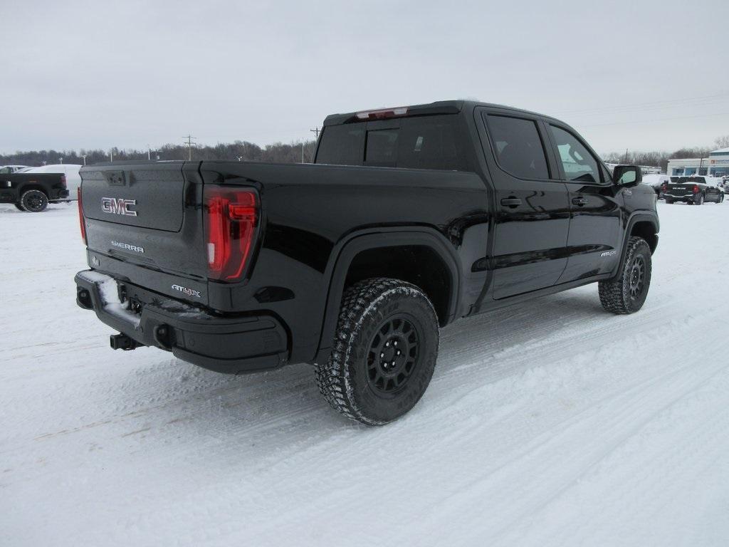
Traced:
<path fill-rule="evenodd" d="M 206 185 L 208 277 L 220 281 L 241 278 L 251 254 L 258 220 L 257 195 L 252 190 Z"/>

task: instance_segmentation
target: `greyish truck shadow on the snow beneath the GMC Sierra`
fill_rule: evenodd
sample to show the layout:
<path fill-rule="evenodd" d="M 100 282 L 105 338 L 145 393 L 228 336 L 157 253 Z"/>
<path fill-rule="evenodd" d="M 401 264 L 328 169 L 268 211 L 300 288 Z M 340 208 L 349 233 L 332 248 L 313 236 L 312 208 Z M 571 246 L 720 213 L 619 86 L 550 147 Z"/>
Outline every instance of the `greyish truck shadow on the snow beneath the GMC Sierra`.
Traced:
<path fill-rule="evenodd" d="M 445 327 L 441 330 L 432 384 L 424 400 L 413 412 L 387 427 L 428 419 L 429 414 L 437 412 L 441 407 L 438 399 L 448 395 L 438 389 L 438 384 L 456 371 L 469 368 L 464 376 L 469 385 L 486 385 L 536 365 L 553 363 L 540 360 L 539 352 L 535 352 L 545 341 L 561 344 L 572 336 L 582 338 L 590 325 L 597 330 L 607 328 L 615 316 L 601 309 L 596 288 L 582 287 L 547 296 Z M 274 431 L 280 434 L 281 430 L 300 433 L 335 432 L 343 427 L 369 429 L 348 422 L 327 405 L 316 387 L 310 365 L 291 365 L 244 376 L 222 375 L 168 358 L 150 365 L 143 376 L 162 377 L 149 379 L 152 385 L 141 391 L 164 400 L 163 414 L 169 415 L 168 419 L 157 416 L 157 427 L 184 427 L 186 434 L 197 430 L 206 436 L 234 433 L 259 441 Z M 140 387 L 139 383 L 138 377 L 135 384 Z M 155 389 L 163 392 L 157 391 L 155 395 Z M 119 396 L 133 396 L 122 393 Z"/>

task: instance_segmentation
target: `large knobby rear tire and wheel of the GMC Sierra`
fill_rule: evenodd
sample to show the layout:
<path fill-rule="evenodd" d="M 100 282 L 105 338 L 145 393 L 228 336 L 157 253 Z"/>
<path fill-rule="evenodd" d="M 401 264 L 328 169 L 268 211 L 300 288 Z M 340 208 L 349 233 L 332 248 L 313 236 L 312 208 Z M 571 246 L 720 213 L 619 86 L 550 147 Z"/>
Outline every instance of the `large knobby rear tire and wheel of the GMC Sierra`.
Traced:
<path fill-rule="evenodd" d="M 398 322 L 399 329 L 407 334 L 397 330 Z M 403 357 L 394 357 L 397 344 L 383 348 L 386 340 L 393 338 L 401 341 L 401 348 L 408 348 Z M 437 315 L 418 287 L 389 278 L 356 283 L 342 298 L 330 358 L 315 366 L 319 391 L 335 410 L 357 422 L 392 422 L 423 396 L 433 376 L 438 341 Z M 380 349 L 375 348 L 382 348 L 383 353 L 378 354 Z M 384 352 L 392 363 L 397 359 L 390 371 L 397 376 L 386 378 L 381 360 Z M 388 363 L 385 361 L 384 366 Z M 401 383 L 395 384 L 396 379 Z"/>

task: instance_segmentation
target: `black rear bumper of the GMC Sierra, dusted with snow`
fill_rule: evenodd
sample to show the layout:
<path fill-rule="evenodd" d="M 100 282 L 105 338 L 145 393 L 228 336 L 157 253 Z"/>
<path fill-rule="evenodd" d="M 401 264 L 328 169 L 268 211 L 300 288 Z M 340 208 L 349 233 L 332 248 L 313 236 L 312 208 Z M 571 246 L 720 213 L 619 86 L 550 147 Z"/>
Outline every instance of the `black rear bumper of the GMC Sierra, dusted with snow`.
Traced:
<path fill-rule="evenodd" d="M 156 346 L 194 365 L 230 374 L 278 368 L 288 360 L 286 330 L 276 317 L 219 317 L 123 284 L 128 298 L 140 304 L 141 311 L 135 314 L 109 297 L 109 290 L 116 290 L 111 277 L 85 270 L 76 274 L 75 281 L 79 307 L 93 310 L 101 322 L 137 344 Z"/>

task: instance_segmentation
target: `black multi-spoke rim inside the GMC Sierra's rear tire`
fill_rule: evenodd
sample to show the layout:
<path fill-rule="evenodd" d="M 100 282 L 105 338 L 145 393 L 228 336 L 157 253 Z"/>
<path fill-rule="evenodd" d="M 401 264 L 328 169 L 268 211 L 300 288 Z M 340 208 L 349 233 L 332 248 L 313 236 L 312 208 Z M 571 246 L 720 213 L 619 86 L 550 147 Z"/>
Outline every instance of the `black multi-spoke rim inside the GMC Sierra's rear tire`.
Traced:
<path fill-rule="evenodd" d="M 391 317 L 381 325 L 367 353 L 367 381 L 380 395 L 405 387 L 418 364 L 420 335 L 405 317 Z"/>

